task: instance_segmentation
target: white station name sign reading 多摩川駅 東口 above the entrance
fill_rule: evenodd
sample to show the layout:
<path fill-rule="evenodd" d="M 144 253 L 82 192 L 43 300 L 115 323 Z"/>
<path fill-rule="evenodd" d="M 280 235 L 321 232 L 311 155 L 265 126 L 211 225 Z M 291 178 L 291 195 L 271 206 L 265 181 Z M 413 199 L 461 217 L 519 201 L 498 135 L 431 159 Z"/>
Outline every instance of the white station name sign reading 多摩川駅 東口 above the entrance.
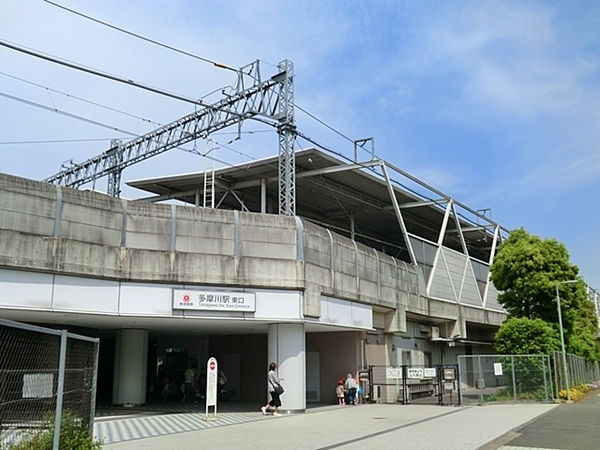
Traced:
<path fill-rule="evenodd" d="M 254 292 L 173 289 L 173 309 L 194 311 L 256 311 Z"/>

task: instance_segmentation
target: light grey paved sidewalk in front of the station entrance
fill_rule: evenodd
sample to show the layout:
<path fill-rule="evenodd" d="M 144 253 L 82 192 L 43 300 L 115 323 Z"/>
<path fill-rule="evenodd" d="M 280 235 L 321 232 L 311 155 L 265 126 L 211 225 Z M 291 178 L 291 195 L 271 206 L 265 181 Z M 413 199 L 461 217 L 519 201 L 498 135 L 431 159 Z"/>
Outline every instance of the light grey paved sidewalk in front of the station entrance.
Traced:
<path fill-rule="evenodd" d="M 238 424 L 223 426 L 217 422 L 204 429 L 107 444 L 104 449 L 179 450 L 201 446 L 219 450 L 262 450 L 266 446 L 276 446 L 289 450 L 476 450 L 555 407 L 539 404 L 331 406 L 278 418 L 265 417 L 258 411 L 237 413 L 247 414 L 248 420 Z M 200 416 L 178 414 L 169 417 L 179 423 L 184 418 L 201 420 Z M 222 419 L 227 420 L 226 417 Z M 125 420 L 140 421 L 142 418 Z"/>

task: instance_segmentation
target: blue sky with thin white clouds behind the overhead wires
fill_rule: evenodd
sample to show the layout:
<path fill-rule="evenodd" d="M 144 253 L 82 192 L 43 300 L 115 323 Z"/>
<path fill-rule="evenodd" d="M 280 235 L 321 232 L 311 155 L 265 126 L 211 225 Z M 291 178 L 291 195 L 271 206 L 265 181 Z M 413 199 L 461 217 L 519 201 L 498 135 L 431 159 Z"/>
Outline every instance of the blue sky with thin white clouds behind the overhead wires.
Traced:
<path fill-rule="evenodd" d="M 299 106 L 351 139 L 374 137 L 379 157 L 473 209 L 491 208 L 506 228 L 563 242 L 586 281 L 600 288 L 600 2 L 57 3 L 232 67 L 293 61 Z M 227 71 L 42 0 L 0 0 L 0 40 L 194 98 L 233 82 Z M 0 93 L 135 134 L 152 129 L 149 121 L 191 112 L 189 104 L 5 47 L 0 62 Z M 300 112 L 297 122 L 304 134 L 352 156 L 347 140 Z M 265 129 L 255 123 L 244 130 L 255 133 L 231 144 L 232 135 L 214 136 L 223 143 L 219 159 L 277 153 L 273 131 L 257 133 Z M 129 136 L 0 96 L 1 172 L 43 179 L 71 158 L 103 152 L 112 138 Z M 47 143 L 66 140 L 77 142 Z M 31 141 L 46 143 L 24 143 Z M 123 176 L 204 164 L 172 150 Z"/>

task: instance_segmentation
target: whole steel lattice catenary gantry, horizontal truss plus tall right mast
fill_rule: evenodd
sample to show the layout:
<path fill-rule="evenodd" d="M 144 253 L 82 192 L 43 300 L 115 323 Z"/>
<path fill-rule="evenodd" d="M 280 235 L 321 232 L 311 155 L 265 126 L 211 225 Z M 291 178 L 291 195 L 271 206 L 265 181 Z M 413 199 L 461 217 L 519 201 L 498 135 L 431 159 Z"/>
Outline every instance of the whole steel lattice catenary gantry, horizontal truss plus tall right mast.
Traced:
<path fill-rule="evenodd" d="M 277 128 L 280 212 L 293 215 L 296 209 L 293 64 L 284 60 L 277 67 L 277 74 L 262 80 L 259 61 L 248 64 L 237 71 L 238 80 L 234 92 L 226 94 L 223 90 L 224 98 L 219 102 L 206 105 L 198 101 L 199 109 L 193 114 L 129 142 L 113 141 L 111 148 L 104 153 L 75 164 L 44 181 L 77 188 L 109 176 L 108 193 L 118 197 L 121 172 L 126 167 L 198 138 L 205 138 L 230 125 L 253 119 Z"/>

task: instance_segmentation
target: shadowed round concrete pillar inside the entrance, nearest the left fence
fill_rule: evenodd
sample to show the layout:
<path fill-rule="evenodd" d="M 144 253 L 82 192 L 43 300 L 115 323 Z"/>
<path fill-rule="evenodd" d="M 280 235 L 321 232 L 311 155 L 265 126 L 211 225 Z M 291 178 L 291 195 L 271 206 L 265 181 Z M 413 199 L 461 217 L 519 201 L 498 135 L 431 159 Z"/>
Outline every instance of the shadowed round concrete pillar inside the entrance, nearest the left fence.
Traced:
<path fill-rule="evenodd" d="M 146 403 L 147 365 L 148 330 L 117 330 L 113 404 Z"/>

